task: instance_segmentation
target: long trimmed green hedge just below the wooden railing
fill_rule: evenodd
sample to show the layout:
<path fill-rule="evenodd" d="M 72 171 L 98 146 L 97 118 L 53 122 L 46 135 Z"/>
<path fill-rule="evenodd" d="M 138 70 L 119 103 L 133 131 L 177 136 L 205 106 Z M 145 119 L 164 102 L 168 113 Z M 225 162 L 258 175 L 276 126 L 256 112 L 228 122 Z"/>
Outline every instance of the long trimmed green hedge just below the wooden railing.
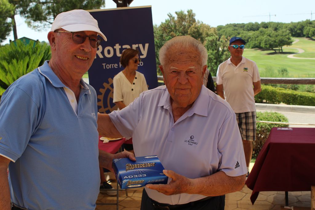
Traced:
<path fill-rule="evenodd" d="M 284 88 L 274 88 L 269 85 L 261 85 L 261 92 L 255 96 L 255 102 L 314 106 L 315 94 L 308 92 L 298 92 Z"/>

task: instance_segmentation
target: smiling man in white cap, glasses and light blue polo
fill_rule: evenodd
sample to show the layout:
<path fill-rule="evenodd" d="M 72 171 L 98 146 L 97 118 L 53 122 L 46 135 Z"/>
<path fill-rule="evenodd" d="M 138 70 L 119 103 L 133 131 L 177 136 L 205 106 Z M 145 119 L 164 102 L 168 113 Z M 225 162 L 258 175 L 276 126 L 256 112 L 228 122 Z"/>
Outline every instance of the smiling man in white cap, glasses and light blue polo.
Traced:
<path fill-rule="evenodd" d="M 84 10 L 59 14 L 51 60 L 16 80 L 0 103 L 0 209 L 95 209 L 100 187 L 95 90 L 82 80 L 105 35 Z M 9 167 L 9 179 L 7 168 Z M 10 204 L 11 194 L 11 204 Z"/>

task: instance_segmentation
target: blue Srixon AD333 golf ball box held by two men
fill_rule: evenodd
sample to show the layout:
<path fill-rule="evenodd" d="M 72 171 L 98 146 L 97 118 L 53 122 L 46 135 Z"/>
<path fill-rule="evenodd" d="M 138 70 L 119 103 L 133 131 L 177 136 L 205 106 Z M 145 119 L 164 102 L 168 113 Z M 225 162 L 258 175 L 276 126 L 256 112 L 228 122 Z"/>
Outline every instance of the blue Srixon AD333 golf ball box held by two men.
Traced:
<path fill-rule="evenodd" d="M 157 156 L 113 159 L 112 167 L 121 189 L 143 187 L 146 184 L 167 184 L 162 163 Z"/>

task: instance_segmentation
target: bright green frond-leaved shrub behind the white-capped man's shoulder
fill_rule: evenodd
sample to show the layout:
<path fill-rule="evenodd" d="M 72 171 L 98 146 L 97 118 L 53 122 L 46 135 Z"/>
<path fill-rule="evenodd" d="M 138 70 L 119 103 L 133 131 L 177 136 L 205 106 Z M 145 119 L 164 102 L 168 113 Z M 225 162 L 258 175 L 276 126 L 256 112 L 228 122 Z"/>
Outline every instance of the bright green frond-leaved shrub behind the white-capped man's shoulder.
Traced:
<path fill-rule="evenodd" d="M 20 40 L 0 47 L 0 95 L 18 78 L 33 71 L 51 57 L 50 46 Z"/>

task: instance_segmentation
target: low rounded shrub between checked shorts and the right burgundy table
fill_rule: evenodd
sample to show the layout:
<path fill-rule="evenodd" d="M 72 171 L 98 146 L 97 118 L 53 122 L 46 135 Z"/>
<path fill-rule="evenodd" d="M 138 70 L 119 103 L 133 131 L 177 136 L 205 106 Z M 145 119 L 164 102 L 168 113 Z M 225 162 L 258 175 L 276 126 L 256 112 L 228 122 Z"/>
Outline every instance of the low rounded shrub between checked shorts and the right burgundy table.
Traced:
<path fill-rule="evenodd" d="M 256 112 L 257 121 L 269 121 L 269 122 L 289 122 L 288 118 L 278 112 Z M 253 142 L 253 158 L 256 159 L 262 146 L 265 144 L 271 128 L 273 127 L 289 127 L 285 124 L 272 124 L 257 122 L 256 140 Z"/>

